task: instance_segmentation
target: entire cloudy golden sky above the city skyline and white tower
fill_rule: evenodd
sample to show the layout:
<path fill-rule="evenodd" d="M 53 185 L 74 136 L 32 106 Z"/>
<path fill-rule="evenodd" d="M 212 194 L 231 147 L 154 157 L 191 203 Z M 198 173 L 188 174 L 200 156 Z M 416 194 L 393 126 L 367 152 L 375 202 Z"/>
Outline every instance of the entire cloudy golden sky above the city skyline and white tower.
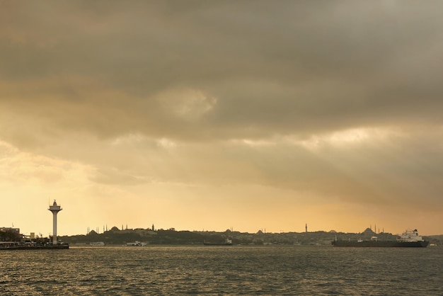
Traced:
<path fill-rule="evenodd" d="M 0 1 L 0 227 L 443 234 L 442 1 Z M 376 225 L 376 226 L 375 226 Z"/>

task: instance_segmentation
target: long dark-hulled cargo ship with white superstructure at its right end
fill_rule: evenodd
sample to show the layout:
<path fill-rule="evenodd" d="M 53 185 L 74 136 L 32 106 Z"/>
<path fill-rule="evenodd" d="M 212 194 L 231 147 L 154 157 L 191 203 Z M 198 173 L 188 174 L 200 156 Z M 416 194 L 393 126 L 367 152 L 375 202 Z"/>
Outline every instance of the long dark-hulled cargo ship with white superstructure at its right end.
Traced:
<path fill-rule="evenodd" d="M 331 241 L 333 246 L 380 246 L 380 247 L 412 247 L 412 248 L 425 248 L 429 244 L 429 241 L 425 241 L 418 235 L 417 229 L 412 231 L 406 230 L 403 234 L 399 235 L 395 241 L 382 240 L 379 241 L 377 237 L 372 237 L 370 240 L 359 239 L 357 241 L 338 241 L 336 238 Z"/>

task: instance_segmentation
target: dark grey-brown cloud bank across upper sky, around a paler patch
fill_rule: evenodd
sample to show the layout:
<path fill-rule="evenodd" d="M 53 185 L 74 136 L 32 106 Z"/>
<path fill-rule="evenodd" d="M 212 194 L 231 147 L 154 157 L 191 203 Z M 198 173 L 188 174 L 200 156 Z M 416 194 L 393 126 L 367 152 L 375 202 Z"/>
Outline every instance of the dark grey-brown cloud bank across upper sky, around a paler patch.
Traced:
<path fill-rule="evenodd" d="M 3 3 L 0 76 L 31 112 L 52 96 L 54 125 L 195 138 L 440 123 L 438 2 Z M 153 99 L 183 87 L 217 98 L 201 125 Z"/>

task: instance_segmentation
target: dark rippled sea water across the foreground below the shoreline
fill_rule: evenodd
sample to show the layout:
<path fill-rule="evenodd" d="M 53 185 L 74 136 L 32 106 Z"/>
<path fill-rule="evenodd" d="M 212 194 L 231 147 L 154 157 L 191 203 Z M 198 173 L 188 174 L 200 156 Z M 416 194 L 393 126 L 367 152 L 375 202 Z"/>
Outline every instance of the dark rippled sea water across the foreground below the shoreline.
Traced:
<path fill-rule="evenodd" d="M 0 251 L 1 295 L 443 295 L 443 248 Z"/>

